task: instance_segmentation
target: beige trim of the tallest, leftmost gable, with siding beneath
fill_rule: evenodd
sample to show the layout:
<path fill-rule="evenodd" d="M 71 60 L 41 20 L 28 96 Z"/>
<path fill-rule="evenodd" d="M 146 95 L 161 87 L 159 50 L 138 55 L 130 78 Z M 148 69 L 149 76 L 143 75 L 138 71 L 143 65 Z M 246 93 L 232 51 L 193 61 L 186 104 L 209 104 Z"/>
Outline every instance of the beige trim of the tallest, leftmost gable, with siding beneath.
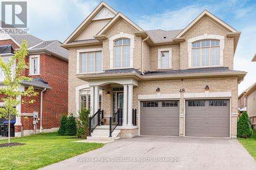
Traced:
<path fill-rule="evenodd" d="M 83 20 L 83 22 L 76 28 L 76 30 L 63 42 L 63 44 L 67 44 L 69 42 L 74 41 L 80 34 L 81 32 L 86 29 L 90 23 L 92 22 L 92 20 L 94 19 L 94 17 L 97 16 L 97 14 L 104 8 L 108 8 L 111 12 L 113 12 L 115 15 L 117 14 L 117 12 L 111 8 L 108 4 L 106 4 L 105 2 L 101 2 L 94 10 L 93 12 L 86 18 Z"/>

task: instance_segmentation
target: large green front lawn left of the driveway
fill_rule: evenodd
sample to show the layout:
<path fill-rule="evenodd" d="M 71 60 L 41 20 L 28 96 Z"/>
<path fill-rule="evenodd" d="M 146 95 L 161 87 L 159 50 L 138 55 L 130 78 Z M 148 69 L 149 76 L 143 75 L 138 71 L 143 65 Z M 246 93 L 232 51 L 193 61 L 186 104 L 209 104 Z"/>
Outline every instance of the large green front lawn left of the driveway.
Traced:
<path fill-rule="evenodd" d="M 0 169 L 37 169 L 103 146 L 101 143 L 72 142 L 80 139 L 68 139 L 70 137 L 42 133 L 11 138 L 11 142 L 26 144 L 0 148 Z M 0 140 L 0 143 L 7 142 L 6 139 Z"/>

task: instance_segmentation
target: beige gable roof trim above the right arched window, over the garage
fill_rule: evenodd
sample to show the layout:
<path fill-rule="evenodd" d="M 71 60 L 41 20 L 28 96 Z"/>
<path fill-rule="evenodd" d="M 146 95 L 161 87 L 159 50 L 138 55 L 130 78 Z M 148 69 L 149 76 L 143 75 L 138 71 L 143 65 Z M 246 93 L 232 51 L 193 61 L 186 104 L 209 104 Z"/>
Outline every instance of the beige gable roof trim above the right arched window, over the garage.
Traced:
<path fill-rule="evenodd" d="M 189 25 L 176 36 L 176 38 L 182 37 L 190 28 L 192 28 L 194 25 L 196 25 L 196 23 L 198 23 L 198 21 L 201 18 L 203 18 L 204 16 L 208 16 L 208 17 L 214 19 L 215 21 L 220 23 L 223 27 L 225 27 L 230 32 L 233 32 L 233 33 L 237 33 L 238 32 L 237 30 L 233 29 L 226 22 L 222 21 L 220 18 L 218 18 L 214 14 L 210 13 L 207 10 L 204 10 L 200 15 L 198 15 L 198 17 L 196 17 L 192 22 L 190 22 Z"/>

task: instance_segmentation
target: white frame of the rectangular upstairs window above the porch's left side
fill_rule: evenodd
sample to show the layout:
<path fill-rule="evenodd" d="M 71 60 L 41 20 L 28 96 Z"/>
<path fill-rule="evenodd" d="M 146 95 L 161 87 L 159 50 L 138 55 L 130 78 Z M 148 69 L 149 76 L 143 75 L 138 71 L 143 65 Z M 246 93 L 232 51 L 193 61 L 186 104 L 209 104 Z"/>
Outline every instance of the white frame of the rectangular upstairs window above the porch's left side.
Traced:
<path fill-rule="evenodd" d="M 94 71 L 88 72 L 88 56 L 87 56 L 87 71 L 81 72 L 81 53 L 90 53 L 94 52 Z M 96 52 L 101 52 L 101 71 L 95 71 L 96 70 Z M 76 74 L 92 74 L 92 73 L 100 73 L 103 72 L 103 53 L 102 48 L 90 48 L 90 49 L 82 49 L 76 51 Z"/>

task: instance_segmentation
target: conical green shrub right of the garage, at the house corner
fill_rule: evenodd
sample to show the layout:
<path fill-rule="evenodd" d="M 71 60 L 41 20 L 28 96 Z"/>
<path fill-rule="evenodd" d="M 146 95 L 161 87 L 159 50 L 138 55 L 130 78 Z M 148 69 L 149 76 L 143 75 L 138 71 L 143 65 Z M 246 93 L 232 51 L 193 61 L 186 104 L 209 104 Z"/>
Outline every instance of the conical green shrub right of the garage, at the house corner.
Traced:
<path fill-rule="evenodd" d="M 238 137 L 251 137 L 252 129 L 249 122 L 248 114 L 244 111 L 238 120 Z"/>

